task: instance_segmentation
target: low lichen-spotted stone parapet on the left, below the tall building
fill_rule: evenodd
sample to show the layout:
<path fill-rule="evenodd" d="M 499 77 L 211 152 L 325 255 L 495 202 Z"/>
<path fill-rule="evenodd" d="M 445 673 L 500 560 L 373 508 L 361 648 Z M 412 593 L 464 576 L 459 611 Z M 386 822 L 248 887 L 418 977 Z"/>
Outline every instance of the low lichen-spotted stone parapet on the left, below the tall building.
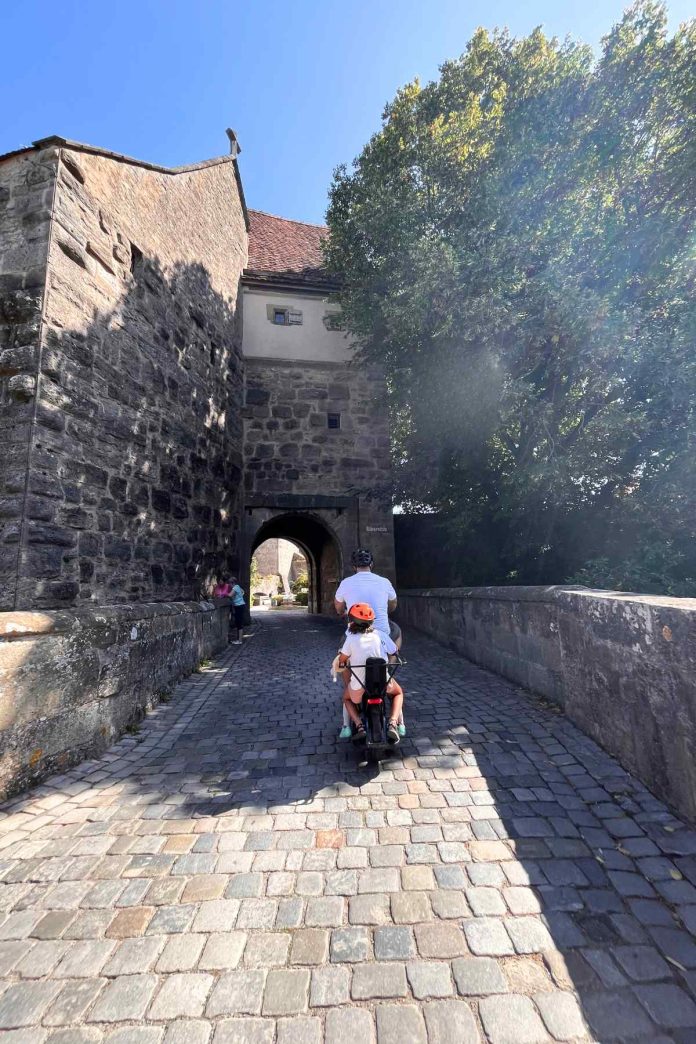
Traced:
<path fill-rule="evenodd" d="M 0 799 L 103 751 L 225 647 L 229 602 L 0 613 Z"/>

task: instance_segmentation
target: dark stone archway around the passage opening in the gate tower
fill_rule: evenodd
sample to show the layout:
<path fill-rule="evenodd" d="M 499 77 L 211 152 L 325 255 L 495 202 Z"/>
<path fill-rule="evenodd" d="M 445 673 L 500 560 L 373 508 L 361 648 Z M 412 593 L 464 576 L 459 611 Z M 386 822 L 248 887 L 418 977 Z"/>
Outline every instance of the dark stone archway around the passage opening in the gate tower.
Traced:
<path fill-rule="evenodd" d="M 259 513 L 261 514 L 261 513 Z M 247 518 L 248 580 L 251 555 L 266 540 L 279 538 L 295 544 L 307 559 L 310 613 L 333 613 L 334 593 L 343 575 L 341 541 L 331 524 L 312 512 L 265 511 Z M 248 587 L 248 584 L 247 584 Z"/>

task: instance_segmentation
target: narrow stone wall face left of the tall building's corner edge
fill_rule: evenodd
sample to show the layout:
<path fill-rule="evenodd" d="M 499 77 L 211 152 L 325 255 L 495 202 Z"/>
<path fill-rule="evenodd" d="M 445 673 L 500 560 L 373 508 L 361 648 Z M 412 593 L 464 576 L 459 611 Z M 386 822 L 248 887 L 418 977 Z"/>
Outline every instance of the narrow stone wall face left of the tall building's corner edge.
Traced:
<path fill-rule="evenodd" d="M 17 594 L 56 165 L 55 148 L 0 161 L 0 609 Z"/>

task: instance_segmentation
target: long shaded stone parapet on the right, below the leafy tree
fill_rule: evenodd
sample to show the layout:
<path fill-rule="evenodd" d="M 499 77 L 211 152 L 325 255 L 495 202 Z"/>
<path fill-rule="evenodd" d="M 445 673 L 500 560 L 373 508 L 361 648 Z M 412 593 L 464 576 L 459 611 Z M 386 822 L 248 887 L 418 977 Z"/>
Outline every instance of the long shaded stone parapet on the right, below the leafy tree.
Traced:
<path fill-rule="evenodd" d="M 552 699 L 696 820 L 696 599 L 438 588 L 402 591 L 399 606 L 406 630 Z"/>

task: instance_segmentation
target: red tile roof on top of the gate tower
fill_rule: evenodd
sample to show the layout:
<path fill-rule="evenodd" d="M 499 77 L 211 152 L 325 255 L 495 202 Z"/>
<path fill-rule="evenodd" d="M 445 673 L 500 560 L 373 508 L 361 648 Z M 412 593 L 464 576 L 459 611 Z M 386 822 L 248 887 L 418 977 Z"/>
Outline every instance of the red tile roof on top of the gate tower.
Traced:
<path fill-rule="evenodd" d="M 249 210 L 249 261 L 246 271 L 268 282 L 331 283 L 323 267 L 323 224 L 307 224 Z"/>

